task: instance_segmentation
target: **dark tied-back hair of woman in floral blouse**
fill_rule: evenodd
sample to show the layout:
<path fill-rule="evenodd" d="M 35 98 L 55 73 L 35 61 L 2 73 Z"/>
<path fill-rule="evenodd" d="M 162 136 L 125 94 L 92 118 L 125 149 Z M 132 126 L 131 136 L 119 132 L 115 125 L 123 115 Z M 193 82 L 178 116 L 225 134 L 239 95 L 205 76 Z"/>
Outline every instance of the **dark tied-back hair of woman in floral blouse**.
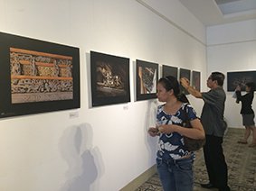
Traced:
<path fill-rule="evenodd" d="M 180 93 L 180 84 L 176 77 L 168 76 L 168 77 L 161 77 L 158 80 L 158 83 L 163 85 L 166 91 L 170 91 L 171 89 L 174 91 L 174 95 L 180 102 L 189 103 L 188 99 L 186 98 L 185 94 Z"/>

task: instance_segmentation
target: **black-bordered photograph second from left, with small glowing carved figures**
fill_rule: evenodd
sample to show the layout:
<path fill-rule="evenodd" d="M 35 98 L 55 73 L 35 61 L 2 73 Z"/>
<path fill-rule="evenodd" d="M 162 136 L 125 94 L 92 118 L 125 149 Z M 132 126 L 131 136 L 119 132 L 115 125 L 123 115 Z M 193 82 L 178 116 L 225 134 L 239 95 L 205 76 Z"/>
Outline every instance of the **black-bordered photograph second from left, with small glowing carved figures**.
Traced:
<path fill-rule="evenodd" d="M 92 106 L 130 102 L 129 59 L 90 51 Z"/>

